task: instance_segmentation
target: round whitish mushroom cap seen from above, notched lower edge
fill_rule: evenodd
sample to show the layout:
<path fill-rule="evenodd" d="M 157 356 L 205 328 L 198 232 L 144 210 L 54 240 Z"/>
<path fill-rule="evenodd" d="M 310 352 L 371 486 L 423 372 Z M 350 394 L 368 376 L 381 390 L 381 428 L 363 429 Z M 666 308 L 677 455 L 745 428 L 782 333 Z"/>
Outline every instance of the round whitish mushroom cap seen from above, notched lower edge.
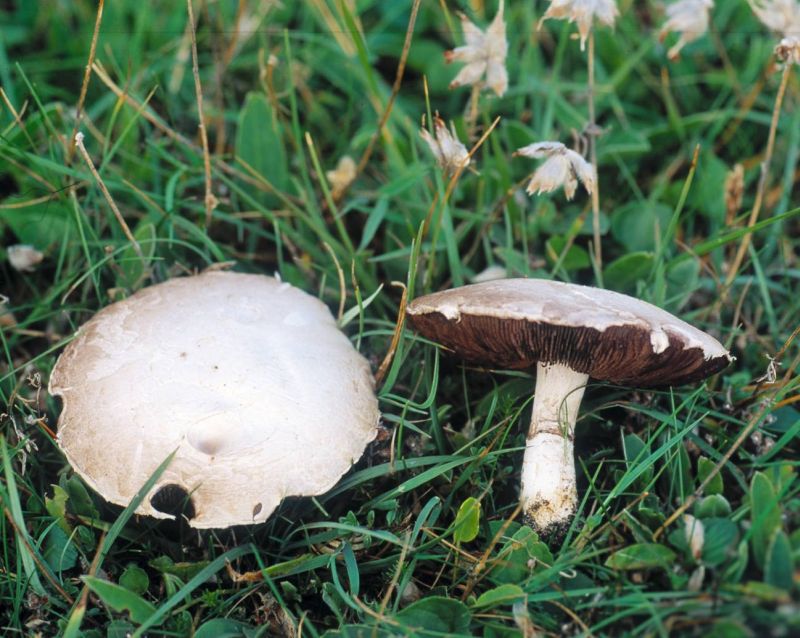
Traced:
<path fill-rule="evenodd" d="M 369 364 L 327 306 L 272 277 L 206 272 L 114 303 L 56 362 L 58 444 L 108 501 L 197 528 L 329 490 L 377 434 Z M 188 510 L 188 513 L 187 513 Z"/>

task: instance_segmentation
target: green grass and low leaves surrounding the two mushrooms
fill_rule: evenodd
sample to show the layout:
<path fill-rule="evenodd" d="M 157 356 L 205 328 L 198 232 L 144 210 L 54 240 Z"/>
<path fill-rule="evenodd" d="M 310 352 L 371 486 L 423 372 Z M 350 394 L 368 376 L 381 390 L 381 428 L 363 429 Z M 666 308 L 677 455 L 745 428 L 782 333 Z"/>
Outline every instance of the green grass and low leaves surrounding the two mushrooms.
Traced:
<path fill-rule="evenodd" d="M 587 121 L 573 27 L 537 32 L 544 3 L 507 0 L 509 90 L 479 97 L 476 172 L 448 182 L 421 117 L 438 111 L 465 139 L 470 91 L 448 91 L 442 52 L 461 44 L 457 9 L 485 26 L 496 6 L 421 3 L 397 82 L 412 5 L 195 2 L 207 151 L 185 3 L 106 3 L 80 122 L 97 3 L 0 8 L 0 245 L 45 254 L 33 272 L 0 263 L 13 313 L 0 317 L 4 634 L 800 631 L 797 70 L 751 219 L 780 83 L 774 37 L 747 3 L 718 2 L 711 33 L 667 62 L 657 3 L 622 0 L 616 28 L 595 34 L 593 264 L 589 198 L 527 197 L 533 164 L 511 158 L 569 143 Z M 70 148 L 76 128 L 135 244 Z M 345 154 L 366 159 L 334 197 L 325 173 Z M 229 261 L 341 304 L 375 370 L 403 294 L 392 282 L 413 298 L 489 265 L 587 284 L 602 269 L 606 287 L 737 358 L 701 387 L 593 382 L 577 426 L 580 511 L 544 539 L 517 510 L 532 377 L 464 367 L 404 331 L 378 386 L 382 434 L 339 485 L 288 499 L 263 525 L 198 533 L 87 490 L 54 443 L 46 386 L 98 309 Z M 759 381 L 776 355 L 774 382 Z"/>

